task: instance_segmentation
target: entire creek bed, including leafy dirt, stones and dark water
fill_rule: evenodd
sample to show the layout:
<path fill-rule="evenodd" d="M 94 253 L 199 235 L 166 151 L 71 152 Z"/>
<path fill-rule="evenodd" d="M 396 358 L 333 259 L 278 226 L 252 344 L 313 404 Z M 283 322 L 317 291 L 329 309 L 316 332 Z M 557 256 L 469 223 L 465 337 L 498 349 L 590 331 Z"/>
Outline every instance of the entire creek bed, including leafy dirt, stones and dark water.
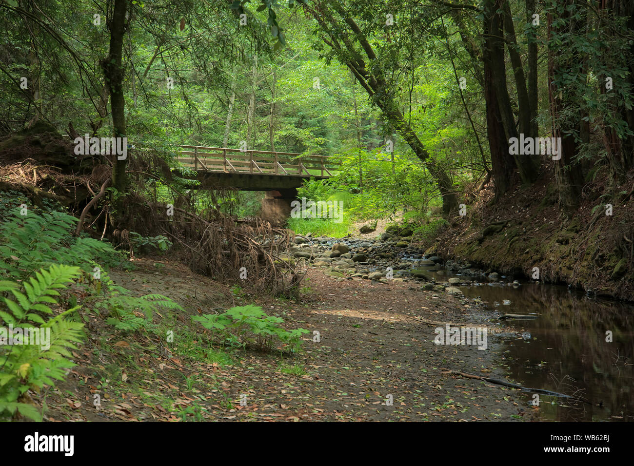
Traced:
<path fill-rule="evenodd" d="M 284 257 L 306 273 L 299 301 L 252 295 L 172 259 L 136 259 L 133 271 L 110 275 L 135 294 L 164 294 L 184 307 L 153 316 L 174 331 L 173 344 L 151 333 L 115 335 L 86 311 L 90 337 L 73 352 L 77 366 L 42 394 L 47 419 L 631 420 L 630 307 L 521 278 L 518 285 L 430 252 L 403 236 L 298 237 Z M 191 321 L 254 303 L 287 328 L 309 330 L 301 353 L 220 349 Z M 500 320 L 503 314 L 537 318 Z M 435 330 L 445 325 L 486 328 L 486 351 L 436 345 Z M 585 402 L 542 393 L 533 405 L 537 392 L 495 381 Z"/>

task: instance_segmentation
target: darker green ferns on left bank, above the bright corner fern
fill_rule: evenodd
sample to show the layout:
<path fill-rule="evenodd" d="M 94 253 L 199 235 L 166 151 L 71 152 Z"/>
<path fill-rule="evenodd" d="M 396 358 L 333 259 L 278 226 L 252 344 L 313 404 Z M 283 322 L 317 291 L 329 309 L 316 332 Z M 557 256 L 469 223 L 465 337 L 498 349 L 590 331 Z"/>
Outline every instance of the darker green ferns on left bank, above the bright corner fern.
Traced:
<path fill-rule="evenodd" d="M 94 262 L 119 264 L 123 259 L 107 242 L 72 235 L 77 219 L 58 211 L 14 209 L 0 226 L 0 274 L 23 278 L 50 264 L 77 266 L 93 273 Z"/>

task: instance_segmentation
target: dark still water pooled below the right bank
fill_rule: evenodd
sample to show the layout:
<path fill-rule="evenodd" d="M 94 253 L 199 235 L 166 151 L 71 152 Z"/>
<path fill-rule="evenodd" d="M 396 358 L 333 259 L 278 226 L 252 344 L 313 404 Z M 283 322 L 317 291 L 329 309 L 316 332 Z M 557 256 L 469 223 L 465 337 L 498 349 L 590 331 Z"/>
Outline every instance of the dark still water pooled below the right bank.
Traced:
<path fill-rule="evenodd" d="M 438 281 L 460 276 L 441 274 L 429 273 Z M 501 324 L 514 327 L 516 334 L 491 335 L 494 341 L 503 339 L 510 377 L 524 387 L 579 396 L 588 402 L 540 395 L 536 417 L 567 422 L 634 421 L 634 305 L 586 297 L 559 285 L 500 287 L 489 286 L 486 277 L 468 278 L 483 286 L 461 286 L 460 290 L 467 297 L 480 297 L 489 309 L 539 314 L 534 320 Z M 510 304 L 504 305 L 505 299 Z M 608 331 L 612 342 L 606 341 Z M 533 410 L 533 394 L 524 396 L 527 408 Z"/>

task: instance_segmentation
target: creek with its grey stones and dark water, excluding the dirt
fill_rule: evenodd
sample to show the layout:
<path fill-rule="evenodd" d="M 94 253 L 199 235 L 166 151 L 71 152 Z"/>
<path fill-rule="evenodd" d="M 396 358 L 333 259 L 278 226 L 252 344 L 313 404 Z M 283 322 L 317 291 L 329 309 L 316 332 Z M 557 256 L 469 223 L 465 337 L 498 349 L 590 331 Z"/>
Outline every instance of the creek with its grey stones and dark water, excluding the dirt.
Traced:
<path fill-rule="evenodd" d="M 444 261 L 411 245 L 407 236 L 390 233 L 375 240 L 297 236 L 285 257 L 305 260 L 335 281 L 370 282 L 374 288 L 398 283 L 418 292 L 422 303 L 453 297 L 454 306 L 468 309 L 471 320 L 481 314 L 503 347 L 498 363 L 508 366 L 512 379 L 573 396 L 574 401 L 536 400 L 534 392 L 522 392 L 522 404 L 533 407 L 538 419 L 634 419 L 630 304 L 482 271 L 469 262 Z"/>

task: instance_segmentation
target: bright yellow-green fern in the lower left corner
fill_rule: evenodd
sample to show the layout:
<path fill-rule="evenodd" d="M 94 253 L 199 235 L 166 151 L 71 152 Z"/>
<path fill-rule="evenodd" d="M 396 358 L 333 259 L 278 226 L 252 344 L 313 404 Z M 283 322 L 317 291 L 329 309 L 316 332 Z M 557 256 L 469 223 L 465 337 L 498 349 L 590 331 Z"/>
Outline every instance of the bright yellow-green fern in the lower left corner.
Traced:
<path fill-rule="evenodd" d="M 3 324 L 12 325 L 14 331 L 20 327 L 29 328 L 29 332 L 50 332 L 48 344 L 43 344 L 41 339 L 39 344 L 29 344 L 31 340 L 27 341 L 25 335 L 13 335 L 11 346 L 5 342 L 0 344 L 0 418 L 15 415 L 18 411 L 33 420 L 41 420 L 39 411 L 23 403 L 20 397 L 29 389 L 39 391 L 44 385 L 54 385 L 53 379 L 63 380 L 65 370 L 75 365 L 69 359 L 72 357 L 70 349 L 75 349 L 75 343 L 81 341 L 84 324 L 65 317 L 77 311 L 79 306 L 55 317 L 50 316 L 53 314 L 51 306 L 58 306 L 59 290 L 67 288 L 68 283 L 79 276 L 81 269 L 78 267 L 53 264 L 22 283 L 0 281 L 3 302 L 0 318 Z M 8 295 L 12 295 L 15 301 Z M 0 333 L 0 339 L 2 336 Z"/>

